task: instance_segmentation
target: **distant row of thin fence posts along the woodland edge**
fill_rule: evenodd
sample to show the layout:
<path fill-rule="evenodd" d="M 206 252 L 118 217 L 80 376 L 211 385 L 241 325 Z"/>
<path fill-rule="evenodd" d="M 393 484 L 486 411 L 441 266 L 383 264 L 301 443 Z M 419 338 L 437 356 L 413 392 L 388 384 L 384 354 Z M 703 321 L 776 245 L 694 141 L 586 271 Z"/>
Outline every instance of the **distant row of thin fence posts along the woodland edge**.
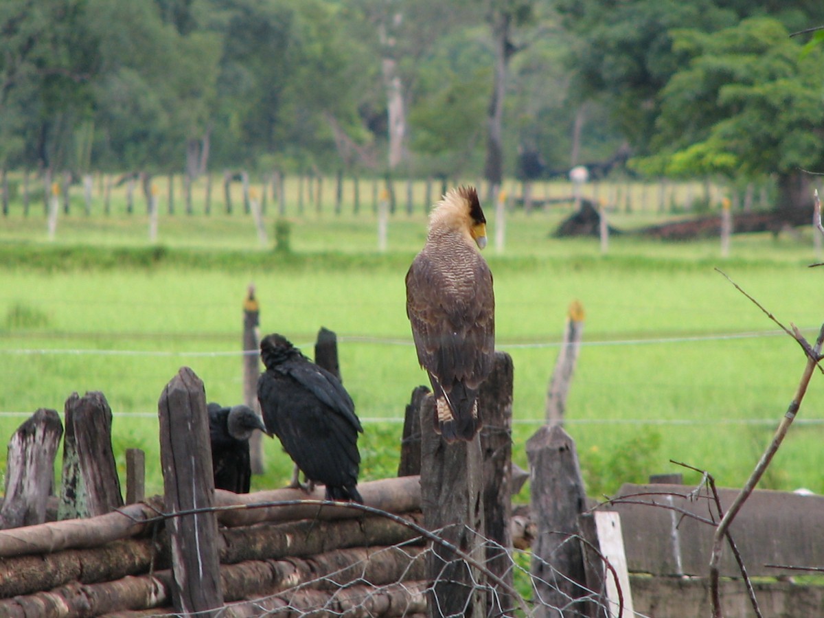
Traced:
<path fill-rule="evenodd" d="M 391 214 L 427 213 L 439 196 L 454 185 L 476 185 L 486 191 L 481 179 L 386 179 L 358 176 L 322 176 L 312 173 L 286 174 L 273 171 L 253 179 L 246 171 L 188 176 L 149 175 L 143 172 L 89 173 L 74 178 L 68 172 L 35 176 L 31 172 L 2 172 L 2 214 L 15 211 L 26 216 L 63 214 L 261 214 L 302 216 L 308 213 L 344 212 L 377 215 L 385 201 Z M 482 193 L 483 194 L 483 193 Z M 569 206 L 578 194 L 567 180 L 535 180 L 504 183 L 509 204 L 527 211 Z M 616 212 L 672 213 L 697 208 L 716 208 L 730 199 L 733 210 L 765 208 L 767 185 L 747 185 L 742 191 L 727 185 L 701 181 L 639 181 L 633 179 L 592 180 L 579 190 Z M 42 208 L 38 207 L 42 204 Z M 329 210 L 331 208 L 331 211 Z"/>

